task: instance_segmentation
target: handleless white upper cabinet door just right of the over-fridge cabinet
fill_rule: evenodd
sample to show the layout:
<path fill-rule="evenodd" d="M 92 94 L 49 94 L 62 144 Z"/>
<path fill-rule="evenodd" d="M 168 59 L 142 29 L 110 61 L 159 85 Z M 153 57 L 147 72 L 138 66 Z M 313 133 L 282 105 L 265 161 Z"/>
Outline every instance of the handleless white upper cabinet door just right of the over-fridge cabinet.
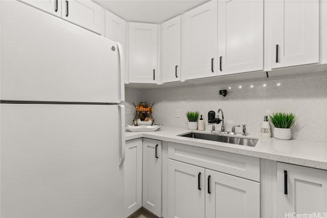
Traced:
<path fill-rule="evenodd" d="M 126 45 L 126 22 L 119 16 L 106 10 L 105 13 L 105 37 L 119 42 L 125 49 Z"/>

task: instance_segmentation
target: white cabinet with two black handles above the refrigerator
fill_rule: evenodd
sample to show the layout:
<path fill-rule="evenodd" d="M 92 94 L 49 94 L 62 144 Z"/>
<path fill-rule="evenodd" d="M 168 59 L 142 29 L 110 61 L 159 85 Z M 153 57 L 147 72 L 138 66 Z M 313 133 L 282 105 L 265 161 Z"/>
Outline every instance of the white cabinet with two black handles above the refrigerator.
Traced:
<path fill-rule="evenodd" d="M 104 9 L 90 0 L 19 1 L 101 34 Z"/>

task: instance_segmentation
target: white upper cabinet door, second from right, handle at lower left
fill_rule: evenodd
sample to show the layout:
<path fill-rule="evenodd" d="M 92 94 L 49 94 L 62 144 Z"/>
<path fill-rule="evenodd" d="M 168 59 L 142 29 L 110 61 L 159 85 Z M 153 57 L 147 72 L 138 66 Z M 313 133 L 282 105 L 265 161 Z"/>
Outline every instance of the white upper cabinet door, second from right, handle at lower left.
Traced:
<path fill-rule="evenodd" d="M 218 75 L 263 69 L 263 0 L 218 1 Z"/>

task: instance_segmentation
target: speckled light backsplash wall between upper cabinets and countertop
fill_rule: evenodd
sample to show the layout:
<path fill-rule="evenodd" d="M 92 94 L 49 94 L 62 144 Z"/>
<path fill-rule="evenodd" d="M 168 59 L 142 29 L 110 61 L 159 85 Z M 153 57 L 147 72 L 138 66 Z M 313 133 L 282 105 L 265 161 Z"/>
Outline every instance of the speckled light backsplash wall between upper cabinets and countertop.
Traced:
<path fill-rule="evenodd" d="M 227 89 L 227 96 L 219 95 L 221 89 Z M 221 108 L 227 131 L 245 123 L 253 136 L 260 136 L 264 115 L 293 112 L 298 121 L 292 127 L 292 138 L 327 141 L 327 72 L 151 90 L 126 88 L 126 101 L 127 105 L 154 102 L 155 123 L 184 128 L 186 111 L 199 111 L 207 123 L 208 111 L 217 113 Z M 176 109 L 180 109 L 180 118 L 175 117 Z M 131 116 L 134 113 L 132 110 Z M 132 118 L 126 116 L 126 123 L 131 124 Z M 220 127 L 216 125 L 216 130 Z M 237 127 L 236 132 L 242 129 Z"/>

